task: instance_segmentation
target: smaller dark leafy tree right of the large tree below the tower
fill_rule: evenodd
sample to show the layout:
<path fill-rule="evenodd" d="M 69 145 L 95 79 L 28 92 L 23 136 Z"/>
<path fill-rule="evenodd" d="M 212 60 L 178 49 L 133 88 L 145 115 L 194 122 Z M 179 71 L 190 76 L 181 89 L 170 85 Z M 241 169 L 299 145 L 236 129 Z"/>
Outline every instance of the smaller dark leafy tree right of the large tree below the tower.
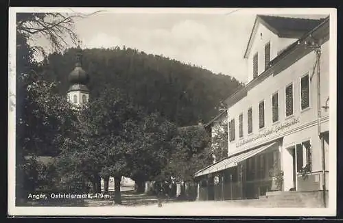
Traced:
<path fill-rule="evenodd" d="M 177 128 L 174 123 L 154 113 L 145 116 L 139 127 L 132 130 L 130 177 L 136 181 L 137 192 L 143 192 L 145 181 L 161 180 L 158 178 L 172 153 L 172 140 L 176 137 Z"/>

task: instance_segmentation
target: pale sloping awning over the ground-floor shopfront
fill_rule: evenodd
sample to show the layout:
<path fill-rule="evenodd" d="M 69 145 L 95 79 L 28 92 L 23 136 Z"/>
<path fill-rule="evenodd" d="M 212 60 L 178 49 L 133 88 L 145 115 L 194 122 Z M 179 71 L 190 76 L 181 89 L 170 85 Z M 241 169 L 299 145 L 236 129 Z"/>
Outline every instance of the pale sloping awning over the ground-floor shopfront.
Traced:
<path fill-rule="evenodd" d="M 219 161 L 217 163 L 214 163 L 211 166 L 208 166 L 202 170 L 199 170 L 198 172 L 196 172 L 196 174 L 194 174 L 194 176 L 197 177 L 197 176 L 202 176 L 202 175 L 206 175 L 206 174 L 211 174 L 213 172 L 218 172 L 220 170 L 225 170 L 227 168 L 232 168 L 234 166 L 237 166 L 237 164 L 239 162 L 244 161 L 245 159 L 248 159 L 250 157 L 257 155 L 258 153 L 263 152 L 267 148 L 274 146 L 274 144 L 276 144 L 276 143 L 277 142 L 272 142 L 271 144 L 261 146 L 261 147 L 258 147 L 258 148 L 252 149 L 252 150 L 248 150 L 248 151 L 243 152 L 243 153 L 233 154 L 233 155 L 227 157 L 226 159 L 223 159 L 222 161 Z"/>

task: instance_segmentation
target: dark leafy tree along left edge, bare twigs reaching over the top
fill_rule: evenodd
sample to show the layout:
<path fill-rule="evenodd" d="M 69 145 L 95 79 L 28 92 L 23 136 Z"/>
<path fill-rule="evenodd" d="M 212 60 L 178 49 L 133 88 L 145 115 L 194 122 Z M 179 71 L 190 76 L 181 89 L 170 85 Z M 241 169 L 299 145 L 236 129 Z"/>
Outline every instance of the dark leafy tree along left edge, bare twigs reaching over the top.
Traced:
<path fill-rule="evenodd" d="M 54 19 L 45 21 L 48 17 Z M 36 159 L 40 155 L 56 155 L 73 118 L 64 96 L 57 94 L 56 83 L 44 79 L 45 63 L 38 64 L 34 59 L 34 53 L 41 51 L 42 47 L 34 46 L 30 41 L 36 35 L 42 35 L 62 47 L 62 43 L 58 42 L 64 34 L 61 28 L 72 23 L 67 16 L 63 17 L 66 20 L 60 23 L 58 19 L 62 15 L 59 14 L 16 14 L 16 70 L 10 70 L 15 74 L 16 91 L 10 92 L 10 105 L 16 109 L 17 199 L 51 180 L 41 179 L 47 177 L 43 167 L 32 159 L 25 159 L 25 156 Z M 39 29 L 38 24 L 45 24 L 45 28 Z M 75 37 L 71 29 L 67 35 Z"/>

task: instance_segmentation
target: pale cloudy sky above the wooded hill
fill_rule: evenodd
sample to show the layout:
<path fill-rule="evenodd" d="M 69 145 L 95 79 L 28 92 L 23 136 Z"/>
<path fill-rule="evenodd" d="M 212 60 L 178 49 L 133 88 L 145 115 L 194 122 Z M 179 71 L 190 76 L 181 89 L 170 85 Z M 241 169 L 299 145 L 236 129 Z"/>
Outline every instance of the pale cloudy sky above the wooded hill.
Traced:
<path fill-rule="evenodd" d="M 241 13 L 244 9 L 213 13 L 209 10 L 148 12 L 98 12 L 76 19 L 75 32 L 83 48 L 125 45 L 246 81 L 244 51 L 259 12 Z"/>

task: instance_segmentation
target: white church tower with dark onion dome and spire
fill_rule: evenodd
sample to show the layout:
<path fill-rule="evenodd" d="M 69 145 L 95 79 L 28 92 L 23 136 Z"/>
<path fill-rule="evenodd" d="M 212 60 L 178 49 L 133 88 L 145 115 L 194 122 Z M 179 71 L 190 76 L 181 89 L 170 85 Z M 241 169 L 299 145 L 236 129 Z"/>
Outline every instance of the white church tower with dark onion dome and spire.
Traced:
<path fill-rule="evenodd" d="M 70 88 L 67 92 L 67 99 L 75 107 L 88 102 L 89 90 L 86 84 L 89 81 L 89 76 L 82 68 L 82 49 L 78 45 L 76 53 L 75 68 L 69 74 Z"/>

